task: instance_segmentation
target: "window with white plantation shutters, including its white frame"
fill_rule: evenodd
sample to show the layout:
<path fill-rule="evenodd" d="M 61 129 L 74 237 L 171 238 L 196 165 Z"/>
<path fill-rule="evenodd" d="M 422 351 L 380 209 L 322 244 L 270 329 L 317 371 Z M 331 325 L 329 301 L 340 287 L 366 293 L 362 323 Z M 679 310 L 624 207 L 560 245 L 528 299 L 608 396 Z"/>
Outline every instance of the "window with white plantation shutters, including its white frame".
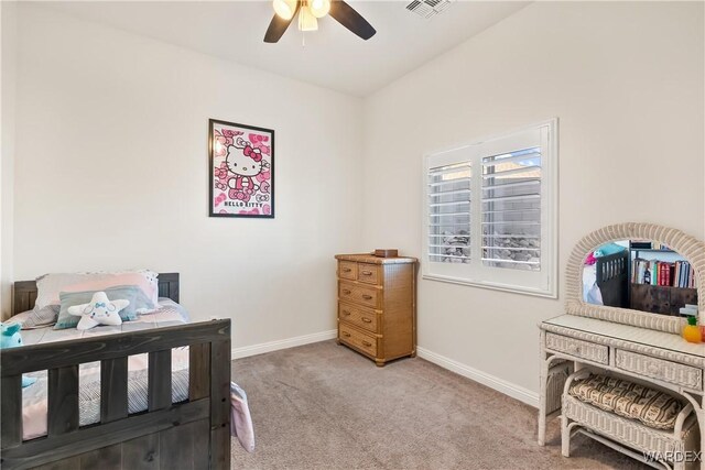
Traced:
<path fill-rule="evenodd" d="M 556 296 L 556 127 L 424 159 L 425 278 Z"/>

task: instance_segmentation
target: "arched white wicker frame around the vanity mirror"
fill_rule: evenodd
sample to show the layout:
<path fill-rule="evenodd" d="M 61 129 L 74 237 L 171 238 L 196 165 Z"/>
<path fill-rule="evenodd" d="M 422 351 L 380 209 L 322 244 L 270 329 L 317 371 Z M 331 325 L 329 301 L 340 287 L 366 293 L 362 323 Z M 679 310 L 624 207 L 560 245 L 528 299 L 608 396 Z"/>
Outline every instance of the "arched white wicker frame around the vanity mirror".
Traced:
<path fill-rule="evenodd" d="M 593 317 L 607 321 L 633 325 L 660 331 L 680 334 L 685 319 L 654 315 L 629 308 L 605 307 L 583 300 L 583 265 L 590 251 L 617 240 L 653 240 L 666 244 L 685 258 L 695 271 L 697 310 L 699 323 L 705 323 L 705 243 L 670 227 L 654 223 L 617 223 L 607 226 L 584 237 L 573 249 L 566 270 L 566 311 L 571 315 Z"/>

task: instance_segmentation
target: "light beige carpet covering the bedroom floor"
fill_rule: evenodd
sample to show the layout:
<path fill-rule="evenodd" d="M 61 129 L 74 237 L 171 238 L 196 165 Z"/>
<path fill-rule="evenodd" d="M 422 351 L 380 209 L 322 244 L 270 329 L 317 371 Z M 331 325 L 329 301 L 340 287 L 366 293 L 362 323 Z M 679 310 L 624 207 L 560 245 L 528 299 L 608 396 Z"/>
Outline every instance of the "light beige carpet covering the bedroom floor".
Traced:
<path fill-rule="evenodd" d="M 257 436 L 234 469 L 648 468 L 584 436 L 562 457 L 557 420 L 539 447 L 535 408 L 419 358 L 378 368 L 330 340 L 232 361 L 232 380 Z"/>

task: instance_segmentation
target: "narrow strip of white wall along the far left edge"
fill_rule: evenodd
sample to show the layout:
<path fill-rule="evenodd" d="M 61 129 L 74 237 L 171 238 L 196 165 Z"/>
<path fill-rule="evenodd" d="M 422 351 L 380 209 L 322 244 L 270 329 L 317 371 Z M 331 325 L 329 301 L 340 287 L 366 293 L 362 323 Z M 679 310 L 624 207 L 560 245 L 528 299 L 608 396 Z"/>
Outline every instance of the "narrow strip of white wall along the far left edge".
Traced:
<path fill-rule="evenodd" d="M 0 2 L 2 74 L 0 78 L 0 318 L 10 314 L 14 190 L 14 101 L 17 74 L 17 3 Z"/>

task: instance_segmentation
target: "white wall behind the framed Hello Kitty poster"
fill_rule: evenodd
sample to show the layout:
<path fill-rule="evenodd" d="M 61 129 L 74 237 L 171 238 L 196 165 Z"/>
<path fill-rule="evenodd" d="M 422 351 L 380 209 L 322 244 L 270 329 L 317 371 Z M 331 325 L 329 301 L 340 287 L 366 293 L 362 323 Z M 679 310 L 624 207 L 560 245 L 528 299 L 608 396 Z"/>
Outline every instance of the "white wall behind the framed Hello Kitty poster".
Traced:
<path fill-rule="evenodd" d="M 19 8 L 14 278 L 182 275 L 234 347 L 335 328 L 335 260 L 359 249 L 357 98 L 50 9 Z M 276 218 L 208 218 L 208 118 L 274 129 Z"/>

